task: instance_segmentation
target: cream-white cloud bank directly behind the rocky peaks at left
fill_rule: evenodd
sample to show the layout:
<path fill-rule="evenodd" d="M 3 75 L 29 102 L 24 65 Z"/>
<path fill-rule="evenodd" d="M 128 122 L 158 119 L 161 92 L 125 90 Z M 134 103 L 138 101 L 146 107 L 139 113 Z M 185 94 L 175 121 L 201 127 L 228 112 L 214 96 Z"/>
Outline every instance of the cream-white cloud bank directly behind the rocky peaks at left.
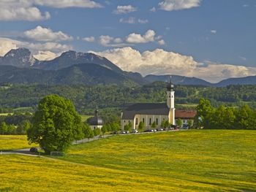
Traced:
<path fill-rule="evenodd" d="M 0 37 L 1 56 L 5 55 L 12 49 L 17 49 L 19 47 L 28 48 L 31 50 L 31 53 L 35 56 L 35 58 L 38 58 L 39 60 L 50 60 L 56 58 L 57 55 L 60 55 L 64 51 L 73 49 L 71 45 L 63 45 L 57 42 L 31 43 Z"/>

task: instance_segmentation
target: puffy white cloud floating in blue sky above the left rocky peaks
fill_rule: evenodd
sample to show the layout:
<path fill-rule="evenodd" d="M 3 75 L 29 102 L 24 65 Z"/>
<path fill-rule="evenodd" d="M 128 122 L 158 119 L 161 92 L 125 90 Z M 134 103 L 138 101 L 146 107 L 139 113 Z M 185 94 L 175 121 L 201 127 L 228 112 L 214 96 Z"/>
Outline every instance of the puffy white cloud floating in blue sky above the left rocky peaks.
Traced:
<path fill-rule="evenodd" d="M 62 31 L 53 32 L 50 28 L 43 28 L 42 26 L 25 31 L 24 37 L 38 42 L 61 42 L 71 41 L 73 39 L 73 37 L 64 34 Z"/>

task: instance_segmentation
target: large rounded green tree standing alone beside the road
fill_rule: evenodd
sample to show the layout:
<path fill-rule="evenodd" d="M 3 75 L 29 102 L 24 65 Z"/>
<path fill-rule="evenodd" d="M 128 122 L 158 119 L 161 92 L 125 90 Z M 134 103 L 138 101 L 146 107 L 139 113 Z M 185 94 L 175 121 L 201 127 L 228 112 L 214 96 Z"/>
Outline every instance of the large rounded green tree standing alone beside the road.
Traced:
<path fill-rule="evenodd" d="M 65 151 L 76 139 L 83 138 L 80 115 L 68 99 L 58 95 L 39 101 L 33 125 L 28 130 L 30 143 L 38 143 L 45 153 Z"/>

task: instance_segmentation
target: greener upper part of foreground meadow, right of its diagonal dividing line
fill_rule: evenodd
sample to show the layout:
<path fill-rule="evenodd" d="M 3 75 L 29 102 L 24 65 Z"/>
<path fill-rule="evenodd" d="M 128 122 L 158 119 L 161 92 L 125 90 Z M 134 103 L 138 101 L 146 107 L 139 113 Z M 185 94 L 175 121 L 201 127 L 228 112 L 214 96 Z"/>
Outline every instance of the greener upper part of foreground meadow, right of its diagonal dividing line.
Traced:
<path fill-rule="evenodd" d="M 177 190 L 256 190 L 256 131 L 118 135 L 74 145 L 62 159 L 165 178 Z"/>

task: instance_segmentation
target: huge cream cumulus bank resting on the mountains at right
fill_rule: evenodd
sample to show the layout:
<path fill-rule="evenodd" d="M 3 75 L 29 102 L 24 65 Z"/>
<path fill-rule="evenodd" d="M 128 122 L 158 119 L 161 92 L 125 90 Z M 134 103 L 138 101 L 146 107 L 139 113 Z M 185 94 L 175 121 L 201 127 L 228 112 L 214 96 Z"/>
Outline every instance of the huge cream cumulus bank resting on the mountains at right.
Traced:
<path fill-rule="evenodd" d="M 210 82 L 218 82 L 229 77 L 255 75 L 256 67 L 230 64 L 201 64 L 192 56 L 168 52 L 162 49 L 140 53 L 132 47 L 105 50 L 99 54 L 108 58 L 125 71 L 146 74 L 178 74 L 199 77 Z"/>

